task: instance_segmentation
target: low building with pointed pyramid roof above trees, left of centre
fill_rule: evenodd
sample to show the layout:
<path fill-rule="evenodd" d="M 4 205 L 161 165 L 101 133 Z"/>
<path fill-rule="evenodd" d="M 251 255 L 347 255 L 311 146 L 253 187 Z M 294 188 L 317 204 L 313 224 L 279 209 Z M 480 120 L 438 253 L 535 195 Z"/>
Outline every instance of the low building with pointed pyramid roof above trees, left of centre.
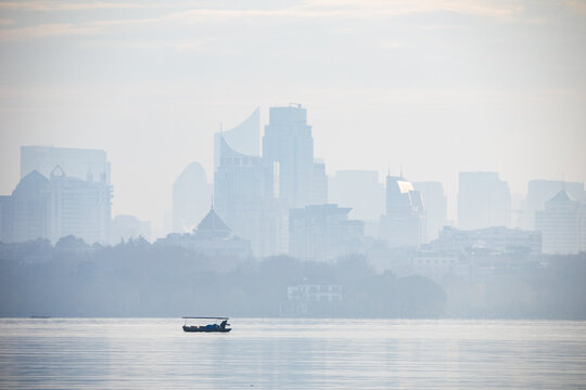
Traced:
<path fill-rule="evenodd" d="M 216 265 L 219 269 L 229 269 L 252 256 L 250 240 L 234 236 L 213 208 L 193 233 L 171 233 L 155 244 L 180 246 L 201 253 L 218 262 Z"/>

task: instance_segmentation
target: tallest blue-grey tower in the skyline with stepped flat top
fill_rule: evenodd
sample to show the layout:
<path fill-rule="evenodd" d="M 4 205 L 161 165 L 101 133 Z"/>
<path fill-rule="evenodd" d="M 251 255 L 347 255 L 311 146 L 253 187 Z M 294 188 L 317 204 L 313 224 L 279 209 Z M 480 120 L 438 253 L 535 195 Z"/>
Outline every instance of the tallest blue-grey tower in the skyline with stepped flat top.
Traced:
<path fill-rule="evenodd" d="M 314 139 L 311 127 L 307 125 L 307 110 L 301 104 L 270 107 L 263 157 L 276 166 L 279 195 L 291 208 L 313 203 Z"/>

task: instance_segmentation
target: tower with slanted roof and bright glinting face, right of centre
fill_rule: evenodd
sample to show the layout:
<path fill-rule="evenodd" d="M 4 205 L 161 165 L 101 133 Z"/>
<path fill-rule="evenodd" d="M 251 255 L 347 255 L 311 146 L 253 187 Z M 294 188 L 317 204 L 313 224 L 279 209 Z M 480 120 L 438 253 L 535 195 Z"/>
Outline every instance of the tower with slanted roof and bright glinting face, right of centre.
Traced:
<path fill-rule="evenodd" d="M 425 242 L 425 209 L 421 193 L 403 177 L 386 177 L 386 213 L 381 238 L 390 247 L 419 247 Z"/>

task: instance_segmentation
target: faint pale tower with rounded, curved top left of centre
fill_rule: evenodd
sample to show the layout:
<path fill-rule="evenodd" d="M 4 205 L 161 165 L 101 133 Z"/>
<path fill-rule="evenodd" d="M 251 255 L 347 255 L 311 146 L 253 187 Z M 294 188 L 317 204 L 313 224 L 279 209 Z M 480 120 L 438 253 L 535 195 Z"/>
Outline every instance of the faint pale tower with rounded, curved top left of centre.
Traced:
<path fill-rule="evenodd" d="M 212 184 L 200 162 L 191 162 L 173 183 L 173 231 L 191 232 L 212 203 Z"/>

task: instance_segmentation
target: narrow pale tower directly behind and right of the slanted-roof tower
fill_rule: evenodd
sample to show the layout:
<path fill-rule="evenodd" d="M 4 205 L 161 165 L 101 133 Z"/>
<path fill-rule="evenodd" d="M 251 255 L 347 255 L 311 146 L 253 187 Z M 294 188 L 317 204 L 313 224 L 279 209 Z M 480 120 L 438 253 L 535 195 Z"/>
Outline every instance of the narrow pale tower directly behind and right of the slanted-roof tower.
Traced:
<path fill-rule="evenodd" d="M 417 182 L 413 188 L 421 193 L 425 205 L 426 240 L 437 238 L 447 223 L 447 198 L 441 182 Z"/>

